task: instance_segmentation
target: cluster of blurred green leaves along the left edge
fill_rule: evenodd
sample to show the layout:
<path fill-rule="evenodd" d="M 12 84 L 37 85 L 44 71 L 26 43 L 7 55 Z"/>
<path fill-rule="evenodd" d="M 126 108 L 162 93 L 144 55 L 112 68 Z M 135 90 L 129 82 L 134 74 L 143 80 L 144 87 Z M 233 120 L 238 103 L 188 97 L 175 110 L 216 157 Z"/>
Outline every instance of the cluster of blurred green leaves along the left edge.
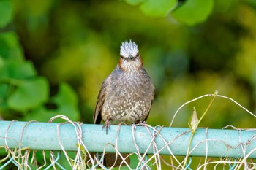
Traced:
<path fill-rule="evenodd" d="M 8 27 L 12 16 L 10 1 L 0 1 L 0 11 L 0 28 Z M 0 114 L 3 119 L 48 121 L 50 117 L 63 113 L 78 120 L 75 92 L 67 83 L 61 82 L 59 92 L 49 98 L 48 80 L 37 75 L 34 64 L 26 61 L 12 28 L 3 29 L 0 34 L 0 57 Z"/>

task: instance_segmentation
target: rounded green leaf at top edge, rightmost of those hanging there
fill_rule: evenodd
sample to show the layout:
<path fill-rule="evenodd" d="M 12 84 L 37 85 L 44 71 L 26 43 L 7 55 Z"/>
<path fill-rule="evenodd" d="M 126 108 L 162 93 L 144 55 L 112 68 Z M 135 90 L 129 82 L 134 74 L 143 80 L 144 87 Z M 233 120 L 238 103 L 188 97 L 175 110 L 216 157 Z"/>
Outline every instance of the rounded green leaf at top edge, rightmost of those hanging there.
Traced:
<path fill-rule="evenodd" d="M 193 26 L 206 20 L 213 7 L 213 0 L 188 0 L 174 10 L 172 15 L 179 22 Z"/>

